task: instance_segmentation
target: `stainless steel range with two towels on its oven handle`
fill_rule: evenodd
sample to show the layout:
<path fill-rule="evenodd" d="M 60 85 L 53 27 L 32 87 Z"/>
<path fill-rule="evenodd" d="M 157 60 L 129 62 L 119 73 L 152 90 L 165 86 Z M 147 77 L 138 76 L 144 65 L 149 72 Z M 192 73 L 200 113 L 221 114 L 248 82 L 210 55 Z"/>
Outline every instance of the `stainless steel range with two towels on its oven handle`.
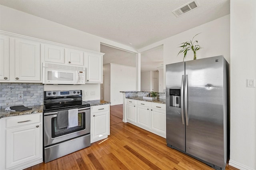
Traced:
<path fill-rule="evenodd" d="M 88 146 L 90 104 L 82 91 L 44 91 L 44 162 Z"/>

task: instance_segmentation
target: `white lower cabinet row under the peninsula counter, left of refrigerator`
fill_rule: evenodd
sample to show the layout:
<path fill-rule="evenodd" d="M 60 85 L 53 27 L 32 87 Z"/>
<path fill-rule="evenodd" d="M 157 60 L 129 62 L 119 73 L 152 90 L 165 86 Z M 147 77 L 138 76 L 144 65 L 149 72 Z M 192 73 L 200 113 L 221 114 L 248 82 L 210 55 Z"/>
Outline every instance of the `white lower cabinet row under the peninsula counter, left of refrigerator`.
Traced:
<path fill-rule="evenodd" d="M 129 123 L 166 138 L 166 105 L 126 99 L 126 119 Z"/>

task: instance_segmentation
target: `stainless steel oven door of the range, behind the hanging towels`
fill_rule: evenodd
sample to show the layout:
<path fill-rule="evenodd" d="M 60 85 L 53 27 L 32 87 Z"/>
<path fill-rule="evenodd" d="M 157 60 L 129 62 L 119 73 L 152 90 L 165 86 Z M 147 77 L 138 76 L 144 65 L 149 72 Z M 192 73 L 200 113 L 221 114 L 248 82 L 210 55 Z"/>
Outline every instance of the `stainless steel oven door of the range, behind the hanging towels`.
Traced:
<path fill-rule="evenodd" d="M 78 109 L 78 126 L 58 128 L 57 112 L 44 113 L 44 146 L 90 133 L 90 107 Z"/>

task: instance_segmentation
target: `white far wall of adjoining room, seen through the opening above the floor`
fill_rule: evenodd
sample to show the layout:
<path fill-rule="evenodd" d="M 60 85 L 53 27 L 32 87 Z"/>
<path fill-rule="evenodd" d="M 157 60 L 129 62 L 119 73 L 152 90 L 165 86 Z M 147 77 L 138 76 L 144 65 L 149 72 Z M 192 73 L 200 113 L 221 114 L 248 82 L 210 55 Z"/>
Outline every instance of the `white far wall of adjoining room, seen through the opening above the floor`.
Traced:
<path fill-rule="evenodd" d="M 110 63 L 110 102 L 111 105 L 123 103 L 120 91 L 136 90 L 136 67 Z"/>

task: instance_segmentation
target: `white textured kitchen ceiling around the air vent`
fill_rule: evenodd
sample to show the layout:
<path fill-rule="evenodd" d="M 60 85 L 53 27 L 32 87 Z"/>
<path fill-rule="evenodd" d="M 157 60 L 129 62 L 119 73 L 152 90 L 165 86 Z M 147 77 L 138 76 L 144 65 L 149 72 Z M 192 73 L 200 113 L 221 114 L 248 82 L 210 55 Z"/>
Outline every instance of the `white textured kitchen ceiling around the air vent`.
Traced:
<path fill-rule="evenodd" d="M 230 0 L 197 1 L 200 7 L 178 18 L 172 11 L 190 0 L 0 0 L 0 4 L 140 49 L 230 14 Z"/>

